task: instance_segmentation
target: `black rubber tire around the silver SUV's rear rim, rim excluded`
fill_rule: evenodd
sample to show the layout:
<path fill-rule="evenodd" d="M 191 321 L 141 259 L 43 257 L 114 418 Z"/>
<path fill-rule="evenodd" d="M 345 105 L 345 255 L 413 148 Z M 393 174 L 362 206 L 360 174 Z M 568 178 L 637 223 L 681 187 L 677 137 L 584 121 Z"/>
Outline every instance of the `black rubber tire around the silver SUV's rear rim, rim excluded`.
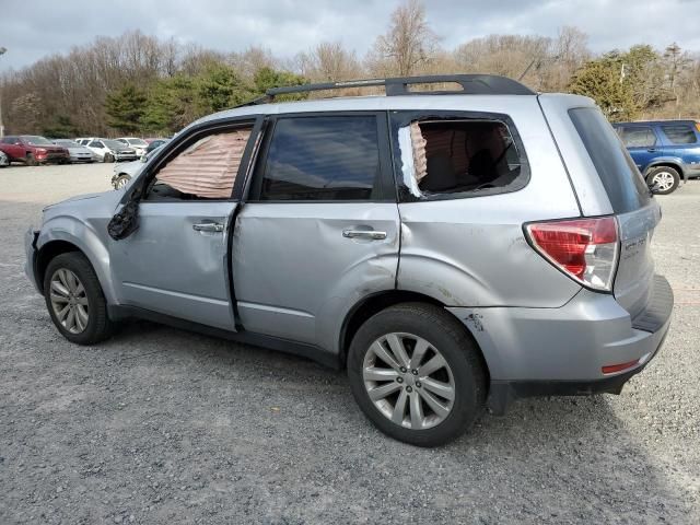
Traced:
<path fill-rule="evenodd" d="M 434 427 L 409 429 L 394 423 L 370 398 L 363 377 L 365 355 L 377 339 L 393 332 L 425 339 L 440 350 L 452 371 L 455 393 L 452 409 Z M 418 446 L 438 446 L 462 435 L 483 411 L 487 395 L 485 365 L 466 328 L 443 308 L 424 303 L 397 304 L 366 320 L 350 345 L 348 377 L 358 405 L 382 432 Z M 420 398 L 417 387 L 419 383 L 415 383 L 413 390 L 409 386 L 402 388 Z"/>

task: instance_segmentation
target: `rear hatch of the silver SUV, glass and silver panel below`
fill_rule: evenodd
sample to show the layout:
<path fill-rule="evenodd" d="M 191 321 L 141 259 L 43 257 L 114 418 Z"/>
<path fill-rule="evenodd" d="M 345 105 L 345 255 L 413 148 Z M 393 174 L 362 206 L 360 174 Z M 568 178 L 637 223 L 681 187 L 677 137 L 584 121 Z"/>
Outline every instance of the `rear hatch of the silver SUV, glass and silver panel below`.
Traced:
<path fill-rule="evenodd" d="M 620 252 L 612 292 L 634 318 L 645 308 L 653 288 L 651 240 L 661 209 L 603 113 L 595 106 L 574 107 L 569 116 L 617 217 Z"/>

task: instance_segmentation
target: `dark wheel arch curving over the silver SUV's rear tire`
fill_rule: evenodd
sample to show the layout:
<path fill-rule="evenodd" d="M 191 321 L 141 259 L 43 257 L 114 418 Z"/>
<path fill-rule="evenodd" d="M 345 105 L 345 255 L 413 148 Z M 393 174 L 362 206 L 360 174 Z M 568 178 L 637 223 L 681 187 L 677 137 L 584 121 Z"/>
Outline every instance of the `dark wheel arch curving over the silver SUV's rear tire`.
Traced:
<path fill-rule="evenodd" d="M 483 357 L 483 351 L 479 346 L 479 342 L 474 337 L 471 329 L 465 325 L 459 317 L 457 317 L 453 312 L 451 312 L 444 303 L 439 301 L 435 298 L 431 298 L 430 295 L 425 295 L 419 292 L 412 292 L 407 290 L 386 290 L 382 292 L 372 293 L 370 295 L 364 296 L 360 301 L 358 301 L 346 315 L 343 323 L 340 329 L 340 337 L 338 341 L 339 348 L 339 365 L 341 369 L 345 369 L 347 365 L 348 359 L 348 350 L 350 348 L 350 343 L 352 342 L 352 338 L 354 337 L 358 329 L 373 315 L 380 313 L 381 311 L 388 308 L 389 306 L 394 306 L 399 303 L 425 303 L 433 304 L 435 306 L 441 307 L 445 313 L 454 317 L 459 325 L 464 327 L 465 332 L 471 339 L 474 343 L 474 348 L 477 349 L 479 360 L 481 361 L 481 365 L 483 366 L 483 371 L 487 374 L 487 385 L 490 382 L 490 371 L 488 363 Z"/>

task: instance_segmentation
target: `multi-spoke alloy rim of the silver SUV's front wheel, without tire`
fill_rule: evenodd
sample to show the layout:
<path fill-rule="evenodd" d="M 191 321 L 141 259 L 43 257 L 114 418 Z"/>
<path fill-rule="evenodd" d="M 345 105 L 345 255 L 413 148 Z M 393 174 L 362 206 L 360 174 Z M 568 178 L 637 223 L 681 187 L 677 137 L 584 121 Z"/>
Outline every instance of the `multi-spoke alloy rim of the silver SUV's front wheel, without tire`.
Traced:
<path fill-rule="evenodd" d="M 51 276 L 50 301 L 56 318 L 71 334 L 81 334 L 90 320 L 85 287 L 75 273 L 59 268 Z"/>

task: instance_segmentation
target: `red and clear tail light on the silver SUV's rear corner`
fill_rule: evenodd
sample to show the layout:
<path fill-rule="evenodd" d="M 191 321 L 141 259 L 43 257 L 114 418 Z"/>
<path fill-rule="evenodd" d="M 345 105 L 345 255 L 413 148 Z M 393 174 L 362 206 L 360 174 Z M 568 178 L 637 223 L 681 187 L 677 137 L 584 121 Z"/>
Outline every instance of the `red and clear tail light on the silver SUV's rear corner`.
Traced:
<path fill-rule="evenodd" d="M 594 290 L 612 290 L 619 255 L 615 218 L 537 222 L 525 230 L 535 249 L 565 275 Z"/>

